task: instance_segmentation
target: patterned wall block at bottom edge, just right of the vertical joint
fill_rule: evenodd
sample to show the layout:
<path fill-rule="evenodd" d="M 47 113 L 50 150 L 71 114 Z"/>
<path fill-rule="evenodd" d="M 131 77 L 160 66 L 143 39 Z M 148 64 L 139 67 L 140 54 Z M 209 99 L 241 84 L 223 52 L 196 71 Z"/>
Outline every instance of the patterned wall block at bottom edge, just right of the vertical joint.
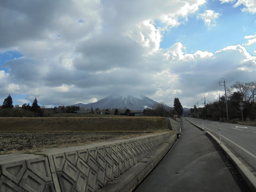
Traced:
<path fill-rule="evenodd" d="M 61 192 L 73 192 L 76 188 L 76 182 L 71 180 L 63 172 L 58 172 L 57 174 L 58 174 L 58 179 L 59 179 L 59 182 L 60 182 Z"/>

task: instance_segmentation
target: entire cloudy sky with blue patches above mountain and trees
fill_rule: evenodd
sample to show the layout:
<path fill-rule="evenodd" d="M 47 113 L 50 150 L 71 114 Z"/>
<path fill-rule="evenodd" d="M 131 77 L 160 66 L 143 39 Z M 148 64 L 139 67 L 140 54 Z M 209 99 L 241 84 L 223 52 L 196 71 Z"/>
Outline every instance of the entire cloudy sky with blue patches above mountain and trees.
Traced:
<path fill-rule="evenodd" d="M 0 1 L 0 104 L 143 94 L 192 108 L 222 78 L 256 81 L 256 0 Z"/>

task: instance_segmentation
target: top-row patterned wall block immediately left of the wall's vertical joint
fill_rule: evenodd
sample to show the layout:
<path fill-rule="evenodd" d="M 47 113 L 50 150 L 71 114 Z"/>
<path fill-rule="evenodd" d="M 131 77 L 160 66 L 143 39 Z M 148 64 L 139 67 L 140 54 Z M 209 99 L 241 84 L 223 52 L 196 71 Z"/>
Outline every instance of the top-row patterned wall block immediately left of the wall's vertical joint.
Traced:
<path fill-rule="evenodd" d="M 50 166 L 47 157 L 26 160 L 27 167 L 45 182 L 52 180 Z"/>

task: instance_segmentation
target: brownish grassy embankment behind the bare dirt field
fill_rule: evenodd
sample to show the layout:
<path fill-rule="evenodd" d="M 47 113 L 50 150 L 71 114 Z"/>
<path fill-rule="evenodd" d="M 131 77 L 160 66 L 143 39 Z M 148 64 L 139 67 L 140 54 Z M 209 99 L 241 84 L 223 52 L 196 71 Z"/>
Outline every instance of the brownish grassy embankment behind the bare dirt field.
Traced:
<path fill-rule="evenodd" d="M 0 132 L 112 132 L 164 130 L 168 130 L 166 118 L 164 117 L 100 116 L 100 114 L 97 114 L 96 116 L 94 115 L 94 117 L 0 118 Z"/>

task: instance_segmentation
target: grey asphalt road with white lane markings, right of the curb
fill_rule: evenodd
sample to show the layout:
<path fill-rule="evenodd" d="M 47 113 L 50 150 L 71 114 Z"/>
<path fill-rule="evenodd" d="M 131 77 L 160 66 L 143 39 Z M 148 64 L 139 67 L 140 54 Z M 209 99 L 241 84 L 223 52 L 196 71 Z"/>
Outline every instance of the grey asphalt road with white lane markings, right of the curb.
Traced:
<path fill-rule="evenodd" d="M 256 176 L 256 127 L 223 122 L 214 122 L 196 118 L 188 120 L 204 127 L 217 138 Z"/>

